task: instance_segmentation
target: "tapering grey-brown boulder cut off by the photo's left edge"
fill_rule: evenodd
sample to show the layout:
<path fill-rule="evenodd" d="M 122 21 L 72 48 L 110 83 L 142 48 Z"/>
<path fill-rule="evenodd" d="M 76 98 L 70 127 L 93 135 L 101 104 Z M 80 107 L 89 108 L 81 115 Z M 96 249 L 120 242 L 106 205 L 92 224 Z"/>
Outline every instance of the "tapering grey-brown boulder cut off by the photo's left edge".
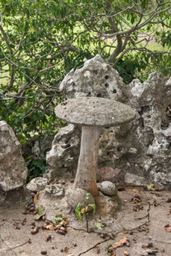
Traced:
<path fill-rule="evenodd" d="M 27 173 L 19 141 L 11 127 L 0 121 L 0 188 L 8 192 L 23 186 Z"/>

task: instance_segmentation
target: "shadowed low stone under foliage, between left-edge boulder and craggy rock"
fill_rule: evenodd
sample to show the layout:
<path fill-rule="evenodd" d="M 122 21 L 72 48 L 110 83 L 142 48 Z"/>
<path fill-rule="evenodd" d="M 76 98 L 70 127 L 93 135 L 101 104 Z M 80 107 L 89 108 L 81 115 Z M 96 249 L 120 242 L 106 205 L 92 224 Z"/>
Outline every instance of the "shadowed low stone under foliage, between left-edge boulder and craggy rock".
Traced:
<path fill-rule="evenodd" d="M 45 134 L 45 137 L 40 142 L 38 140 L 26 140 L 21 148 L 23 157 L 33 157 L 34 160 L 38 160 L 44 156 L 44 151 L 51 149 L 53 140 L 54 136 L 48 134 Z"/>

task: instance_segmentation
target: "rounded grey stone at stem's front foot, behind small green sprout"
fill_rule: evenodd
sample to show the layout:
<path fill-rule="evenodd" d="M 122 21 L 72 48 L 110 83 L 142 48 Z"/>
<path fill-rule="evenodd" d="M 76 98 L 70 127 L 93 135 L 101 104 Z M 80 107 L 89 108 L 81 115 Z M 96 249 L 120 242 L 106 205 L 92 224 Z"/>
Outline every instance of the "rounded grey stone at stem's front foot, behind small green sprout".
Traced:
<path fill-rule="evenodd" d="M 84 208 L 84 205 L 95 204 L 95 198 L 93 198 L 92 195 L 87 198 L 86 194 L 87 191 L 83 189 L 69 189 L 66 191 L 65 199 L 67 204 L 69 204 L 69 206 L 74 210 L 76 209 L 79 202 L 82 208 Z"/>

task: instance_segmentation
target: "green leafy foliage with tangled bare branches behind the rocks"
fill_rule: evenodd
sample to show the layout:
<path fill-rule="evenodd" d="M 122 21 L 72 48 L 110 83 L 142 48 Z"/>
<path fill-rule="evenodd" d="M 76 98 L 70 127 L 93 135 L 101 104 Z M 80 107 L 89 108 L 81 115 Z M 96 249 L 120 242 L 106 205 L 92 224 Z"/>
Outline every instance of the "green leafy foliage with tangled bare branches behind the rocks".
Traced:
<path fill-rule="evenodd" d="M 170 10 L 166 0 L 1 0 L 1 119 L 21 143 L 57 133 L 59 84 L 96 54 L 126 84 L 154 70 L 170 75 Z"/>

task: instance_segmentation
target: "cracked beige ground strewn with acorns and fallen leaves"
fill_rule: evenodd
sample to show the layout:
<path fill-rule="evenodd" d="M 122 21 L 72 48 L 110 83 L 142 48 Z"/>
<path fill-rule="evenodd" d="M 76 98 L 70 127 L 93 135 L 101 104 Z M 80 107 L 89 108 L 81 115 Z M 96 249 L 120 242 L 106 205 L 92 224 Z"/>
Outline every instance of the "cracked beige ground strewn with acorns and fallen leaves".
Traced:
<path fill-rule="evenodd" d="M 67 186 L 65 187 L 65 189 Z M 134 192 L 132 189 L 135 189 Z M 127 251 L 130 256 L 138 255 L 158 255 L 158 256 L 170 256 L 171 255 L 171 233 L 167 232 L 164 226 L 171 225 L 171 214 L 167 215 L 170 211 L 171 203 L 166 202 L 167 198 L 171 198 L 168 191 L 161 192 L 149 192 L 145 191 L 142 187 L 126 187 L 125 190 L 119 192 L 121 204 L 119 210 L 116 213 L 108 214 L 104 216 L 102 209 L 97 205 L 96 213 L 90 213 L 89 230 L 92 228 L 91 233 L 87 233 L 85 227 L 85 221 L 81 223 L 75 216 L 75 213 L 64 201 L 64 198 L 49 198 L 44 192 L 39 195 L 40 204 L 45 207 L 46 219 L 52 220 L 55 214 L 63 214 L 64 217 L 69 217 L 70 222 L 67 224 L 67 233 L 62 236 L 61 234 L 50 231 L 49 229 L 39 228 L 39 232 L 31 234 L 31 221 L 33 221 L 33 214 L 22 214 L 23 205 L 25 205 L 29 196 L 26 195 L 25 201 L 23 201 L 21 192 L 17 192 L 13 195 L 8 195 L 4 201 L 4 204 L 0 207 L 0 255 L 1 256 L 38 256 L 42 255 L 40 251 L 47 251 L 48 256 L 90 256 L 90 255 L 107 255 L 105 248 L 109 245 L 119 242 L 123 236 L 126 236 L 130 240 L 130 246 L 123 245 L 120 248 L 115 249 L 116 256 L 124 256 L 124 251 Z M 159 193 L 160 195 L 155 195 Z M 131 198 L 134 194 L 140 195 L 141 202 L 132 204 Z M 22 199 L 21 199 L 22 198 Z M 156 199 L 158 205 L 155 206 L 148 202 L 150 199 Z M 137 205 L 143 205 L 143 210 L 134 211 L 133 207 Z M 25 225 L 21 224 L 21 220 L 26 218 Z M 95 228 L 95 222 L 102 222 L 106 225 L 103 230 Z M 20 229 L 14 229 L 13 223 Z M 45 220 L 37 220 L 36 226 L 41 226 L 45 223 Z M 138 231 L 138 227 L 142 229 L 147 223 L 149 232 L 146 230 Z M 127 233 L 126 230 L 127 229 Z M 140 229 L 140 228 L 139 228 Z M 123 233 L 125 231 L 125 234 Z M 131 231 L 131 232 L 130 232 Z M 170 230 L 171 231 L 171 230 Z M 107 234 L 106 237 L 101 238 L 100 234 Z M 110 239 L 108 233 L 113 233 L 114 239 Z M 46 236 L 51 235 L 51 242 L 46 242 Z M 27 243 L 28 239 L 31 239 L 31 243 Z M 156 254 L 148 254 L 148 249 L 141 248 L 141 245 L 152 242 L 153 246 L 151 250 L 156 251 Z M 22 245 L 25 243 L 24 245 Z M 73 246 L 76 243 L 76 246 Z M 18 246 L 22 245 L 22 246 Z M 18 246 L 14 248 L 15 246 Z M 61 252 L 67 246 L 66 252 Z M 10 248 L 13 248 L 9 250 Z M 157 249 L 155 249 L 157 248 Z M 142 254 L 145 251 L 146 254 Z"/>

